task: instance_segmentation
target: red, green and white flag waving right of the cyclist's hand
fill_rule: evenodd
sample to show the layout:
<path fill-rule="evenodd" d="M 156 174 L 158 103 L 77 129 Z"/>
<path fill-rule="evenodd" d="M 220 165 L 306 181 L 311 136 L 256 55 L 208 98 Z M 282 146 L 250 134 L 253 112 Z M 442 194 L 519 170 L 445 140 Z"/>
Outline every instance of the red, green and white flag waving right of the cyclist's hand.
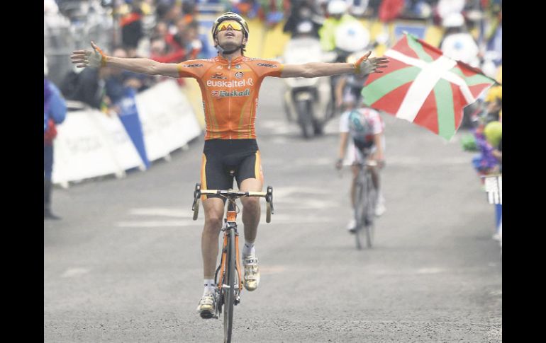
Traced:
<path fill-rule="evenodd" d="M 384 55 L 389 64 L 382 74 L 369 75 L 362 89 L 364 103 L 447 140 L 461 125 L 464 106 L 495 83 L 479 69 L 445 57 L 407 33 Z"/>

